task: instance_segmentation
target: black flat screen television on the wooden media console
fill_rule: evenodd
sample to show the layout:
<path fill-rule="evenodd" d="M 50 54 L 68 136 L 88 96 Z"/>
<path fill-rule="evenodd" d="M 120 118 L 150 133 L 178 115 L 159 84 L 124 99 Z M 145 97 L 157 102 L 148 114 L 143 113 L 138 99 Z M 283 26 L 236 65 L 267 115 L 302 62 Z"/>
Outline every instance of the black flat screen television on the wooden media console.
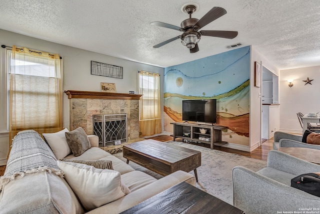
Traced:
<path fill-rule="evenodd" d="M 216 123 L 216 99 L 182 100 L 182 120 Z"/>

